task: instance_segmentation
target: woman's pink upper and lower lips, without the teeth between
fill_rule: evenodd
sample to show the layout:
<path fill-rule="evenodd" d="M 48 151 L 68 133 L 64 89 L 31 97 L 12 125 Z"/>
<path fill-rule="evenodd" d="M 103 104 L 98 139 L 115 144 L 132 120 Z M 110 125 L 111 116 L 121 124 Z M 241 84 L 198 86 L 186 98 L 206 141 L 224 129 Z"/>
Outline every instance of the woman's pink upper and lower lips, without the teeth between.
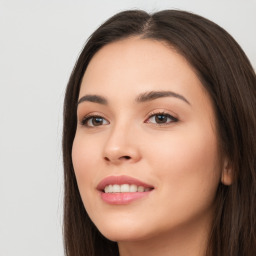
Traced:
<path fill-rule="evenodd" d="M 105 179 L 103 179 L 97 186 L 97 190 L 100 192 L 101 199 L 108 203 L 108 204 L 129 204 L 134 200 L 143 198 L 148 196 L 152 190 L 149 190 L 147 192 L 127 192 L 127 193 L 104 193 L 104 188 L 107 185 L 122 185 L 122 184 L 134 184 L 137 186 L 143 186 L 145 188 L 151 188 L 152 190 L 154 189 L 153 186 L 146 184 L 140 180 L 137 180 L 135 178 L 129 177 L 129 176 L 109 176 Z"/>

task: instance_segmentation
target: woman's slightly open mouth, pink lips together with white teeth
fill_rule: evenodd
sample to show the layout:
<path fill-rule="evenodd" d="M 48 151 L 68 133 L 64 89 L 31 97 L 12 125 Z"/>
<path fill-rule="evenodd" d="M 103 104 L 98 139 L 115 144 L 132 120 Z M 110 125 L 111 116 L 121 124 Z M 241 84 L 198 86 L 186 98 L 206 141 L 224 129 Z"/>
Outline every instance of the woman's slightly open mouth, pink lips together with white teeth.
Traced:
<path fill-rule="evenodd" d="M 129 176 L 109 176 L 97 186 L 101 199 L 108 204 L 128 204 L 146 197 L 154 187 Z"/>

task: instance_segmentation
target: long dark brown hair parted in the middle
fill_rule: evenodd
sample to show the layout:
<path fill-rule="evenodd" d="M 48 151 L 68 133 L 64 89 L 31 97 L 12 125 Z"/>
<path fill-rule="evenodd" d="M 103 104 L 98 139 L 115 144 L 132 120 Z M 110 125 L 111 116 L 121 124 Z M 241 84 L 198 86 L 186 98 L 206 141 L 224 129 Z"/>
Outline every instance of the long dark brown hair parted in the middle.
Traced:
<path fill-rule="evenodd" d="M 235 40 L 215 23 L 184 11 L 152 15 L 125 11 L 89 38 L 73 69 L 64 102 L 64 243 L 67 256 L 118 255 L 103 237 L 81 200 L 71 159 L 77 100 L 88 63 L 104 45 L 138 36 L 164 41 L 183 55 L 212 98 L 220 147 L 229 157 L 233 184 L 219 184 L 206 255 L 256 255 L 256 78 Z"/>

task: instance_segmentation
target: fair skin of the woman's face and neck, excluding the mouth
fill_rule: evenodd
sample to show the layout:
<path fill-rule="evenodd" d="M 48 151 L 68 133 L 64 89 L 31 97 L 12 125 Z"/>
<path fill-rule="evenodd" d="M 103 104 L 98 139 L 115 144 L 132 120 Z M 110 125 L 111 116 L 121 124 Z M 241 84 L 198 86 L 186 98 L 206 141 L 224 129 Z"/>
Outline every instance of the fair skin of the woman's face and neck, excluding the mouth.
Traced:
<path fill-rule="evenodd" d="M 108 44 L 90 61 L 79 99 L 72 159 L 100 232 L 121 256 L 204 255 L 216 189 L 228 175 L 210 97 L 187 61 L 150 39 Z M 150 191 L 104 201 L 98 184 L 121 175 Z"/>

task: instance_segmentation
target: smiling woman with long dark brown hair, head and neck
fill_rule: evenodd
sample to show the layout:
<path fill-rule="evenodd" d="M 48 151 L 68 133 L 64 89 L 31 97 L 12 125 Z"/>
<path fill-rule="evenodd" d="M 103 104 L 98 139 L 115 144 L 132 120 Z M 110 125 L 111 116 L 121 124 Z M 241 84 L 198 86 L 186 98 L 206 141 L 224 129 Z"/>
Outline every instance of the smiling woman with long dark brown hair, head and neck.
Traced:
<path fill-rule="evenodd" d="M 255 255 L 255 109 L 255 72 L 211 21 L 106 21 L 66 91 L 66 255 Z"/>

